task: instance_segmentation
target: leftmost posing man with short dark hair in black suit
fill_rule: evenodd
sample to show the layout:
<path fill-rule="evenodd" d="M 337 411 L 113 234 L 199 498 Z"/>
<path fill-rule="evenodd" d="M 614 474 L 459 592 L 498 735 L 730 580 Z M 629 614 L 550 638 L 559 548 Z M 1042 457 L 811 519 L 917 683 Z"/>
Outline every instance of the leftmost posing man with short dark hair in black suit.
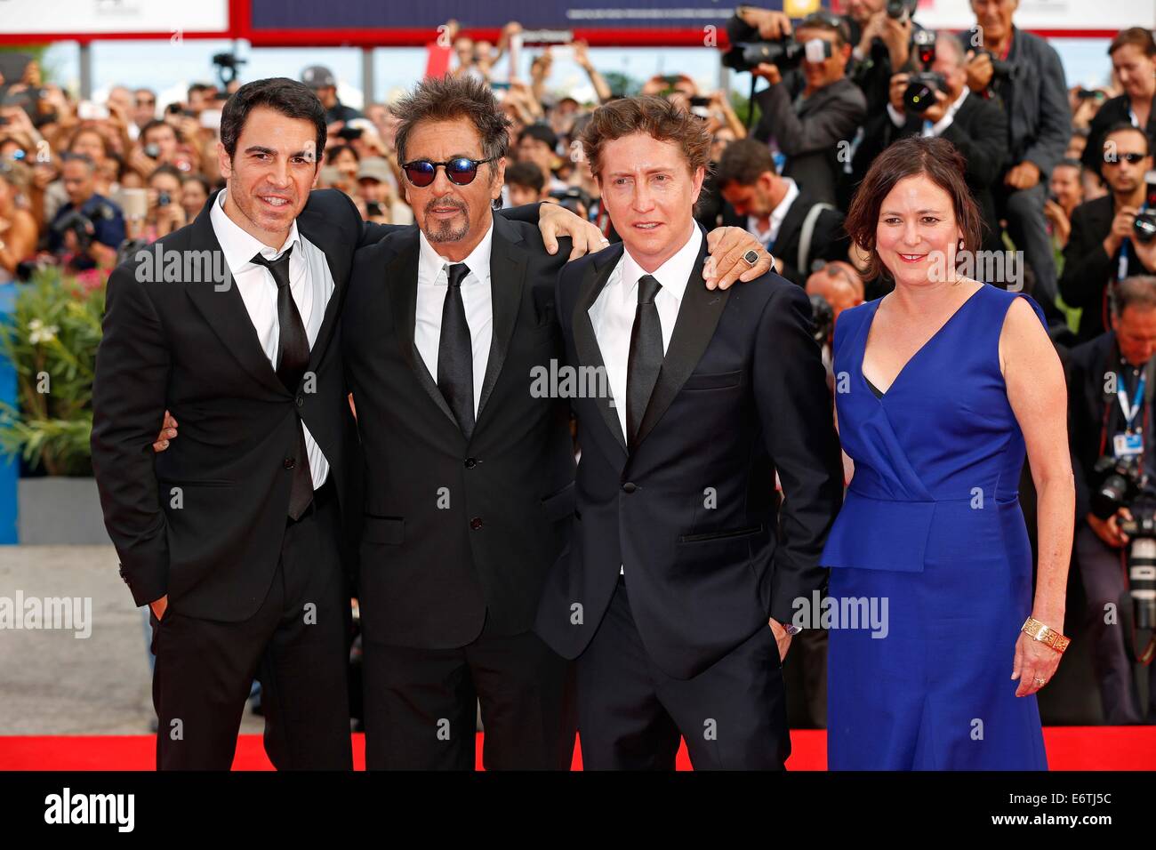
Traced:
<path fill-rule="evenodd" d="M 351 767 L 362 461 L 339 311 L 354 251 L 395 228 L 311 193 L 325 138 L 302 83 L 243 86 L 221 121 L 227 190 L 109 281 L 92 465 L 120 575 L 153 611 L 161 768 L 228 769 L 254 677 L 276 767 Z M 154 460 L 166 408 L 181 436 Z"/>

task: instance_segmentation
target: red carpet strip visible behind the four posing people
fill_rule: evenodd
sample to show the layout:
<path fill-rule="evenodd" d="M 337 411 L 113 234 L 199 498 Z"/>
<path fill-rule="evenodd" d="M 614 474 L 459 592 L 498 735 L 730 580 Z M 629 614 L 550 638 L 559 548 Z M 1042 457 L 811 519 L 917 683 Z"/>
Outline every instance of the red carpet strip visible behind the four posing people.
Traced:
<path fill-rule="evenodd" d="M 1156 770 L 1156 726 L 1050 726 L 1044 730 L 1052 770 Z M 477 768 L 482 767 L 482 736 L 477 736 Z M 821 730 L 791 733 L 791 770 L 827 767 L 827 734 Z M 0 770 L 151 770 L 155 736 L 0 736 Z M 365 738 L 354 736 L 354 766 L 365 767 Z M 234 770 L 272 770 L 261 736 L 237 741 Z M 575 753 L 573 769 L 581 769 Z M 687 747 L 679 751 L 679 769 L 689 770 Z"/>

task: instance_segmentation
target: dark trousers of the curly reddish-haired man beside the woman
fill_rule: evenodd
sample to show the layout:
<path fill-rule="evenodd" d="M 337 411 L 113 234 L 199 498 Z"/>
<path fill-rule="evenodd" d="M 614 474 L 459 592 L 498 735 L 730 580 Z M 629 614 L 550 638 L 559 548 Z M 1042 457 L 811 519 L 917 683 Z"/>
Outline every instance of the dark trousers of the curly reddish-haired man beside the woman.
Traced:
<path fill-rule="evenodd" d="M 759 629 L 694 679 L 651 660 L 620 578 L 578 658 L 578 738 L 585 770 L 673 770 L 684 738 L 695 770 L 781 770 L 791 754 L 775 635 Z"/>

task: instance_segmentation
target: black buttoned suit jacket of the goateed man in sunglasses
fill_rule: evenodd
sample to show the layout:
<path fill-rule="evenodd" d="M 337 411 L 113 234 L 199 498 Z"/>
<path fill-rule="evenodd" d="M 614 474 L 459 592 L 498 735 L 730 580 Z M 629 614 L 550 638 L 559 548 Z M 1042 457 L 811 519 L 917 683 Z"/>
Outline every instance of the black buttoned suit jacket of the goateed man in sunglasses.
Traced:
<path fill-rule="evenodd" d="M 343 321 L 365 459 L 362 624 L 369 641 L 445 649 L 527 631 L 573 511 L 566 399 L 533 392 L 562 359 L 555 281 L 569 243 L 495 216 L 494 340 L 467 441 L 414 346 L 416 231 L 357 252 Z"/>

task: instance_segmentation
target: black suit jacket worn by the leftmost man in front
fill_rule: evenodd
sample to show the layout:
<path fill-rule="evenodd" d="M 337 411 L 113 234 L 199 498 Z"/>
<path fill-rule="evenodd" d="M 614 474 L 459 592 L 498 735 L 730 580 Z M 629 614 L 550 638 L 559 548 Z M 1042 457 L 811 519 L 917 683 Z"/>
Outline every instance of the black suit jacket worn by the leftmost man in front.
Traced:
<path fill-rule="evenodd" d="M 224 267 L 209 219 L 214 202 L 147 253 L 207 251 Z M 356 207 L 333 190 L 311 193 L 297 227 L 325 252 L 334 282 L 310 355 L 313 392 L 281 384 L 231 280 L 218 291 L 206 275 L 147 280 L 142 269 L 142 282 L 136 257 L 109 279 L 92 384 L 92 467 L 120 575 L 138 605 L 168 594 L 176 611 L 224 621 L 257 611 L 281 552 L 298 413 L 329 463 L 342 509 L 356 491 L 357 443 L 335 342 L 354 250 L 377 231 L 363 229 Z M 165 408 L 180 435 L 155 454 Z"/>

